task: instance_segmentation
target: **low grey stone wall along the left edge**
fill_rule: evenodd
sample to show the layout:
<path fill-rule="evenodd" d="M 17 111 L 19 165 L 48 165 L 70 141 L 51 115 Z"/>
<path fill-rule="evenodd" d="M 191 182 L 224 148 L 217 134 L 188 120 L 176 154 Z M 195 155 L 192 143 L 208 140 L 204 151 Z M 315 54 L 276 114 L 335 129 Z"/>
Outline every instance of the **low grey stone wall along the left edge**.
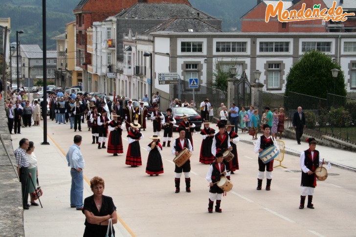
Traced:
<path fill-rule="evenodd" d="M 12 163 L 16 165 L 3 99 L 0 101 L 0 134 Z M 24 236 L 21 183 L 11 167 L 11 162 L 1 142 L 0 180 L 0 236 Z"/>

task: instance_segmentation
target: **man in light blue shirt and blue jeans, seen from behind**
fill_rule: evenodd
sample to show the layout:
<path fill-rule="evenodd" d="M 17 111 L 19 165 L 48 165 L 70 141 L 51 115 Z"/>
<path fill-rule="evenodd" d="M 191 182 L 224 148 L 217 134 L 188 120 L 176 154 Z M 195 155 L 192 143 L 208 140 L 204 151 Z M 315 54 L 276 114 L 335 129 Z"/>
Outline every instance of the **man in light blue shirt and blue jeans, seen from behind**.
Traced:
<path fill-rule="evenodd" d="M 72 186 L 70 188 L 70 207 L 78 211 L 83 210 L 83 169 L 85 162 L 79 146 L 82 144 L 82 136 L 74 136 L 74 144 L 70 146 L 66 158 L 70 167 Z"/>

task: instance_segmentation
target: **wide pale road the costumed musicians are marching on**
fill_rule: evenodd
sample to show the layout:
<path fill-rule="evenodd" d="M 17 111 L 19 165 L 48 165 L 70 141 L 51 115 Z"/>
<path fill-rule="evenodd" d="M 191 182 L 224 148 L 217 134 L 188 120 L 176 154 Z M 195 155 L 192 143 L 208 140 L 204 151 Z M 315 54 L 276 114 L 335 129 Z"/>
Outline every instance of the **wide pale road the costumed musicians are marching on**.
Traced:
<path fill-rule="evenodd" d="M 355 172 L 332 167 L 328 179 L 317 182 L 315 209 L 299 210 L 299 158 L 286 154 L 283 163 L 288 169 L 274 169 L 271 191 L 257 191 L 257 154 L 252 145 L 240 142 L 237 145 L 240 170 L 231 175 L 234 186 L 222 199 L 223 213 L 208 214 L 209 188 L 205 175 L 209 166 L 199 163 L 199 133 L 193 134 L 192 192 L 184 191 L 182 175 L 181 192 L 175 194 L 174 156 L 170 148 L 161 152 L 164 173 L 152 177 L 145 173 L 152 122 L 148 121 L 148 129 L 143 131 L 145 137 L 140 141 L 143 166 L 137 168 L 125 165 L 128 147 L 125 130 L 125 153 L 112 156 L 91 144 L 86 124 L 82 124 L 82 132 L 69 129 L 69 124 L 58 125 L 50 120 L 47 124 L 48 135 L 64 152 L 75 134 L 83 136 L 84 175 L 87 179 L 96 175 L 104 178 L 104 194 L 113 198 L 117 213 L 136 236 L 355 236 L 356 187 L 352 182 Z M 65 163 L 58 165 L 66 166 Z"/>

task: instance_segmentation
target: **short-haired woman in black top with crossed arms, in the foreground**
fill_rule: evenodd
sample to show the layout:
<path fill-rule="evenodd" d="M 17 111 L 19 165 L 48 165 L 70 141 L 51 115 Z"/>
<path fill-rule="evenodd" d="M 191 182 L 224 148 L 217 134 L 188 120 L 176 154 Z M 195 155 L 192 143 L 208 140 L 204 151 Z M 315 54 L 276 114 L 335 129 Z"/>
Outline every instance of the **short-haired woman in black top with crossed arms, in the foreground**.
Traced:
<path fill-rule="evenodd" d="M 105 237 L 109 219 L 112 224 L 117 223 L 116 207 L 110 196 L 104 196 L 104 179 L 95 176 L 90 180 L 93 195 L 84 199 L 83 214 L 85 215 L 85 231 L 83 237 Z M 115 231 L 112 228 L 112 234 Z M 111 230 L 109 232 L 111 236 Z"/>

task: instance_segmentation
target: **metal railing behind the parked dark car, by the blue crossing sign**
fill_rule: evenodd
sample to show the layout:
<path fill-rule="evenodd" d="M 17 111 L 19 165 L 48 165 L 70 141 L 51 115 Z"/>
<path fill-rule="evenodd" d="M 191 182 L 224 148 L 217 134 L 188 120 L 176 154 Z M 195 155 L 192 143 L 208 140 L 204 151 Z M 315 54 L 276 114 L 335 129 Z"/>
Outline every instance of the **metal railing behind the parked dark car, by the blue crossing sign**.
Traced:
<path fill-rule="evenodd" d="M 179 98 L 178 95 L 178 85 L 173 85 L 173 97 L 178 98 L 181 100 L 183 103 L 184 100 L 187 100 L 187 103 L 190 104 L 190 100 L 193 98 L 193 89 L 189 88 L 189 82 L 188 81 L 181 81 L 180 85 L 180 90 L 181 90 L 181 98 Z M 224 105 L 227 105 L 227 93 L 214 89 L 211 87 L 207 86 L 202 86 L 199 85 L 198 88 L 195 88 L 195 103 L 196 103 L 196 109 L 199 109 L 200 103 L 203 102 L 205 99 L 209 99 L 210 104 L 214 108 L 214 116 L 217 116 L 218 113 L 218 108 L 220 107 L 221 103 Z"/>

